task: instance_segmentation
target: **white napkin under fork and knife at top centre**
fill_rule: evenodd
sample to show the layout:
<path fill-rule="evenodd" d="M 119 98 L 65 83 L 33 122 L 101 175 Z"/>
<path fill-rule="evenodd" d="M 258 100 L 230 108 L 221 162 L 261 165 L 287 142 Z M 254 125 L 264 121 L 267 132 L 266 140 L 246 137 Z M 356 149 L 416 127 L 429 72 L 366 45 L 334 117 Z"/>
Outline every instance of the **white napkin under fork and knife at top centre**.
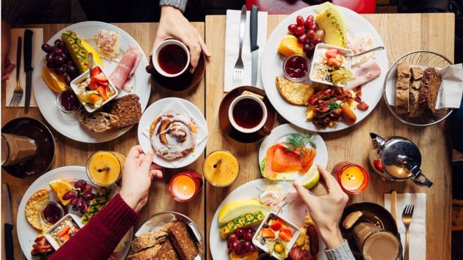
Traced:
<path fill-rule="evenodd" d="M 250 53 L 250 12 L 246 13 L 246 29 L 244 31 L 243 58 L 244 74 L 243 81 L 234 84 L 233 69 L 239 54 L 239 22 L 241 20 L 241 11 L 227 10 L 227 28 L 225 31 L 225 71 L 224 71 L 224 92 L 229 92 L 241 85 L 251 84 L 252 61 Z M 259 46 L 259 66 L 257 67 L 257 88 L 262 88 L 262 79 L 260 75 L 260 61 L 264 52 L 265 43 L 267 42 L 267 12 L 257 13 L 257 45 Z"/>

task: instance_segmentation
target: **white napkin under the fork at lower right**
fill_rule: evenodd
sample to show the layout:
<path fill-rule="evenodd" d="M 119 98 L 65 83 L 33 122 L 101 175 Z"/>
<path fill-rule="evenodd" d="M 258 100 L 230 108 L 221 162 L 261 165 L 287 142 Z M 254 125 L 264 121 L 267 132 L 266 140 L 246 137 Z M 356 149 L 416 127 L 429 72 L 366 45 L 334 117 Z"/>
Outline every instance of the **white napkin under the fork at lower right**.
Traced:
<path fill-rule="evenodd" d="M 402 222 L 402 212 L 408 204 L 415 205 L 410 224 L 410 259 L 426 259 L 426 193 L 397 193 L 397 226 L 404 251 L 405 226 Z M 384 207 L 391 211 L 390 193 L 384 194 Z"/>

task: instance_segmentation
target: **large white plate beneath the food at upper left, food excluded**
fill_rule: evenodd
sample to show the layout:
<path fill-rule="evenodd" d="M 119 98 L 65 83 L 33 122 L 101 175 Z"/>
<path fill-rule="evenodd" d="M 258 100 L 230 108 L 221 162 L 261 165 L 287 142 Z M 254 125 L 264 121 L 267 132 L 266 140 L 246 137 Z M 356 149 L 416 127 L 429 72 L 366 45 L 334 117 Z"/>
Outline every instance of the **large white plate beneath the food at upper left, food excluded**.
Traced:
<path fill-rule="evenodd" d="M 74 25 L 69 25 L 68 27 L 63 28 L 60 32 L 57 32 L 51 39 L 47 42 L 51 46 L 56 39 L 61 39 L 62 32 L 67 30 L 74 31 L 79 38 L 87 41 L 93 48 L 96 49 L 96 41 L 93 40 L 95 35 L 98 33 L 99 29 L 109 29 L 121 34 L 121 53 L 119 57 L 122 57 L 123 50 L 127 50 L 128 46 L 135 46 L 139 48 L 142 53 L 143 50 L 138 45 L 137 41 L 132 38 L 127 32 L 123 29 L 116 27 L 114 25 L 109 25 L 105 22 L 79 22 Z M 56 94 L 48 88 L 45 81 L 43 81 L 41 71 L 43 67 L 46 66 L 45 61 L 46 53 L 41 51 L 39 58 L 37 59 L 36 64 L 34 64 L 34 75 L 32 86 L 34 90 L 35 99 L 37 101 L 37 106 L 39 107 L 41 114 L 48 121 L 48 123 L 55 128 L 61 135 L 68 137 L 70 139 L 76 140 L 78 142 L 84 143 L 100 143 L 107 142 L 109 140 L 115 139 L 128 130 L 131 127 L 123 128 L 117 130 L 116 132 L 110 133 L 98 133 L 91 132 L 90 130 L 84 128 L 80 125 L 79 120 L 77 119 L 77 113 L 74 114 L 64 114 L 58 107 L 56 107 Z M 102 59 L 103 70 L 106 74 L 111 74 L 118 62 L 109 62 L 108 60 Z M 138 95 L 140 97 L 140 104 L 142 105 L 142 111 L 145 110 L 149 100 L 149 94 L 151 93 L 151 84 L 149 83 L 149 74 L 145 71 L 145 67 L 148 65 L 147 57 L 143 53 L 143 57 L 138 63 L 137 70 L 132 79 L 133 90 L 131 93 Z M 119 92 L 119 97 L 127 95 L 125 91 Z M 82 108 L 83 109 L 83 108 Z"/>

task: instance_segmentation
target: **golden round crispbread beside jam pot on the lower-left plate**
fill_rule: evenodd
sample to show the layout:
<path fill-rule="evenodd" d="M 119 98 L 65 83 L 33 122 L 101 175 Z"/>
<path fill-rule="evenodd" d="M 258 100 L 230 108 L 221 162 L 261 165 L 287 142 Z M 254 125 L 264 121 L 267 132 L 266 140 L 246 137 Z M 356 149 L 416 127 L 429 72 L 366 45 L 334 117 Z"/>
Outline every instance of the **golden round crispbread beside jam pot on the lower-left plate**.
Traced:
<path fill-rule="evenodd" d="M 25 207 L 26 219 L 32 227 L 43 231 L 45 226 L 40 223 L 40 207 L 50 200 L 50 194 L 47 189 L 36 191 L 27 200 Z"/>

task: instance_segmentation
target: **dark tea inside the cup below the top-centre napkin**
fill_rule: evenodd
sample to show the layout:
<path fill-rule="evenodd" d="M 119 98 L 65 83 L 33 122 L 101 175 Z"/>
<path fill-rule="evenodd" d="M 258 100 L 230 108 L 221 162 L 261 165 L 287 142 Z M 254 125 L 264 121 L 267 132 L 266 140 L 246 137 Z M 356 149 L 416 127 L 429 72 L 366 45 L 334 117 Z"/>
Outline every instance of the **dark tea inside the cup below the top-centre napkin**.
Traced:
<path fill-rule="evenodd" d="M 242 128 L 255 128 L 262 121 L 264 111 L 259 102 L 243 98 L 233 108 L 233 119 Z"/>

